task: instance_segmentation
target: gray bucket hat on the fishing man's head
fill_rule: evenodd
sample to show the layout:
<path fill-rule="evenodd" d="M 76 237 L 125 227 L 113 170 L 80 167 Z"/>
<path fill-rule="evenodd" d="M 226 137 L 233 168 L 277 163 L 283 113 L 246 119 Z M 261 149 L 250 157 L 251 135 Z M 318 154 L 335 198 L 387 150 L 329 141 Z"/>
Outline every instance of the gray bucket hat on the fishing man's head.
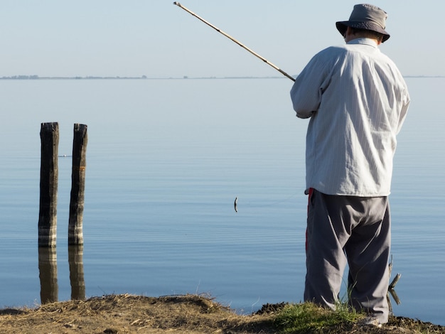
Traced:
<path fill-rule="evenodd" d="M 345 36 L 348 27 L 376 31 L 383 35 L 383 43 L 390 38 L 390 34 L 385 31 L 387 17 L 386 12 L 377 6 L 358 4 L 354 6 L 349 21 L 338 21 L 336 22 L 336 26 L 342 36 Z"/>

